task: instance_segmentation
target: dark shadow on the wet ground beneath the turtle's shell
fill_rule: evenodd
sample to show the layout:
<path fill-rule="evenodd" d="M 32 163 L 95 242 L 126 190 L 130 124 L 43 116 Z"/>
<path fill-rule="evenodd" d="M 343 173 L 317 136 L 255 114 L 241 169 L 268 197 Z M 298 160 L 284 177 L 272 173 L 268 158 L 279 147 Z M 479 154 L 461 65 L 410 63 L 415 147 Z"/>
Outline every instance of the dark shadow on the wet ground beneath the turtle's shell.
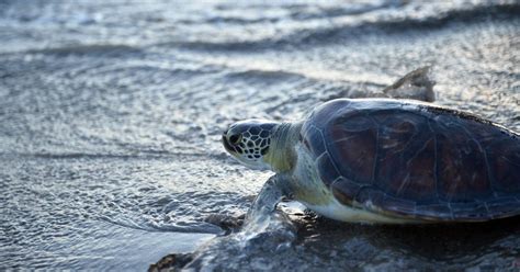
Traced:
<path fill-rule="evenodd" d="M 323 245 L 342 243 L 348 248 L 355 239 L 358 241 L 352 243 L 355 247 L 373 247 L 430 261 L 451 261 L 504 251 L 504 241 L 519 237 L 520 216 L 486 223 L 430 225 L 362 225 L 317 217 L 303 224 L 298 242 L 314 247 L 319 240 Z"/>

